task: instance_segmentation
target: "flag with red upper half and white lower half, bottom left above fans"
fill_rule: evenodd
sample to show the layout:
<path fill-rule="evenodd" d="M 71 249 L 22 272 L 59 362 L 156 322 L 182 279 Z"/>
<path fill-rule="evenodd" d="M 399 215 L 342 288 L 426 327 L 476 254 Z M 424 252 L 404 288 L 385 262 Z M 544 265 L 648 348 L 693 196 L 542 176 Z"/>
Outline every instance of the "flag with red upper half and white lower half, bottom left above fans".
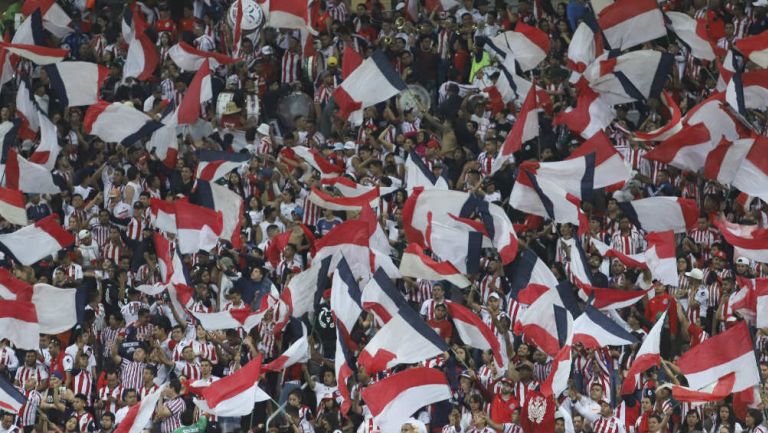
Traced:
<path fill-rule="evenodd" d="M 245 364 L 241 369 L 223 377 L 202 389 L 195 405 L 204 413 L 216 416 L 244 416 L 253 411 L 253 405 L 266 394 L 259 388 L 261 355 Z"/>

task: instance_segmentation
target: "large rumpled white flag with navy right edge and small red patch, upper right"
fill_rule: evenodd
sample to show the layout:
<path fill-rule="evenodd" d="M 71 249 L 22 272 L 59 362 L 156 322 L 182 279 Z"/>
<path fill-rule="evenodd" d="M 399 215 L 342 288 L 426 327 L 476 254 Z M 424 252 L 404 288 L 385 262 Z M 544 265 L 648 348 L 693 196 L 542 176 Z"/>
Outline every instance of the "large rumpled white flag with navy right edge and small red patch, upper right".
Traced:
<path fill-rule="evenodd" d="M 631 0 L 627 0 L 631 3 Z M 658 98 L 675 59 L 656 50 L 639 50 L 595 62 L 584 76 L 609 105 Z"/>

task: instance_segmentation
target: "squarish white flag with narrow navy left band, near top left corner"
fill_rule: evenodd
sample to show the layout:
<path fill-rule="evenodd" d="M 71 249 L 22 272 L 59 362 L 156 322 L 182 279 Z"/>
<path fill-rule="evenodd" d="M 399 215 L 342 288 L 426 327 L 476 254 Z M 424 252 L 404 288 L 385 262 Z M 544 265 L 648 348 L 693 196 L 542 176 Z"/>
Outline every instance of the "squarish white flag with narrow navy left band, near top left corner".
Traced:
<path fill-rule="evenodd" d="M 45 66 L 51 89 L 65 107 L 91 105 L 99 101 L 99 90 L 109 69 L 91 62 L 59 62 Z"/>

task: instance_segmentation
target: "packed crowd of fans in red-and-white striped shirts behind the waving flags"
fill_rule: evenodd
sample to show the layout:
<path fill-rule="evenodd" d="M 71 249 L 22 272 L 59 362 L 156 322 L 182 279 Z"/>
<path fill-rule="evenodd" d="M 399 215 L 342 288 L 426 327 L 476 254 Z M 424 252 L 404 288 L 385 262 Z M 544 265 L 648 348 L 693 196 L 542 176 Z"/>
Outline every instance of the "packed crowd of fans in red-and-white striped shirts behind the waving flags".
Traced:
<path fill-rule="evenodd" d="M 274 359 L 301 335 L 298 323 L 275 327 L 270 314 L 249 333 L 237 329 L 207 331 L 188 312 L 177 311 L 167 295 L 148 296 L 136 290 L 140 285 L 161 282 L 152 246 L 156 230 L 150 200 L 172 201 L 194 193 L 196 150 L 248 152 L 252 158 L 220 181 L 244 200 L 244 246 L 235 249 L 221 241 L 212 251 L 183 257 L 194 282 L 191 311 L 258 308 L 260 297 L 273 284 L 282 290 L 311 263 L 310 238 L 302 225 L 321 238 L 342 221 L 356 217 L 352 212 L 323 210 L 308 200 L 311 187 L 321 186 L 320 174 L 286 152 L 294 145 L 322 152 L 344 170 L 344 176 L 357 183 L 402 187 L 385 196 L 379 206 L 380 223 L 394 248 L 395 263 L 407 245 L 402 229 L 402 206 L 408 195 L 403 184 L 405 157 L 415 151 L 432 173 L 447 179 L 452 189 L 503 206 L 516 223 L 521 244 L 535 251 L 557 278 L 568 277 L 564 266 L 569 260 L 569 245 L 577 236 L 574 227 L 552 224 L 507 205 L 517 175 L 514 164 L 491 173 L 493 159 L 515 122 L 517 109 L 515 104 L 491 107 L 486 98 L 483 90 L 493 85 L 498 73 L 489 68 L 494 61 L 484 51 L 483 41 L 484 37 L 513 30 L 519 22 L 547 32 L 550 51 L 532 76 L 549 93 L 557 113 L 575 105 L 575 90 L 567 82 L 566 50 L 575 26 L 592 13 L 589 2 L 463 0 L 448 11 L 429 12 L 425 6 L 432 2 L 427 1 L 420 6 L 417 22 L 406 19 L 403 3 L 316 2 L 320 9 L 315 22 L 318 33 L 309 36 L 314 52 L 306 50 L 300 32 L 264 27 L 244 38 L 242 61 L 215 69 L 215 93 L 234 95 L 223 113 L 216 112 L 216 101 L 205 107 L 205 123 L 220 132 L 219 139 L 183 130 L 173 169 L 164 166 L 154 149 L 146 149 L 142 142 L 124 146 L 88 135 L 83 128 L 87 107 L 62 106 L 40 68 L 23 63 L 17 69 L 18 76 L 30 79 L 35 100 L 58 128 L 62 152 L 54 174 L 67 186 L 56 195 L 27 194 L 28 217 L 33 222 L 57 214 L 75 235 L 76 243 L 31 267 L 9 259 L 3 266 L 28 283 L 83 288 L 88 291 L 88 305 L 85 321 L 77 328 L 61 335 L 41 335 L 39 351 L 16 350 L 0 335 L 0 375 L 23 389 L 27 397 L 18 416 L 2 415 L 0 432 L 109 433 L 128 408 L 163 384 L 169 386 L 147 430 L 377 431 L 360 399 L 360 390 L 382 375 L 369 377 L 358 370 L 349 384 L 352 409 L 347 415 L 340 412 L 333 368 L 336 331 L 327 298 L 302 318 L 310 330 L 310 361 L 280 373 L 267 373 L 260 382 L 271 401 L 257 404 L 250 416 L 242 418 L 206 416 L 193 404 L 186 389 L 189 383 L 218 380 L 259 354 L 265 362 Z M 6 32 L 13 32 L 13 12 L 21 3 L 12 5 L 3 16 Z M 109 68 L 102 99 L 130 101 L 159 118 L 168 101 L 181 98 L 195 72 L 182 71 L 173 63 L 168 55 L 172 45 L 186 41 L 199 50 L 232 54 L 232 29 L 226 18 L 230 3 L 140 3 L 161 58 L 161 65 L 147 81 L 122 79 L 127 44 L 121 34 L 121 2 L 61 1 L 72 17 L 74 32 L 63 40 L 47 34 L 47 43 L 67 48 L 71 59 Z M 660 3 L 665 9 L 706 19 L 711 36 L 723 48 L 768 29 L 768 3 L 762 0 L 754 5 L 744 0 Z M 692 59 L 685 47 L 669 38 L 648 45 L 676 55 L 677 67 L 666 89 L 683 113 L 715 91 L 718 69 L 714 63 Z M 393 98 L 366 109 L 359 127 L 339 119 L 330 96 L 342 81 L 342 56 L 347 48 L 363 58 L 382 50 L 403 80 L 421 86 L 430 101 L 404 108 Z M 17 85 L 14 79 L 2 89 L 0 121 L 15 116 Z M 293 115 L 289 110 L 291 115 L 286 116 L 280 101 L 295 98 L 297 92 L 305 95 L 299 100 L 307 114 Z M 258 97 L 258 115 L 246 107 L 249 95 Z M 582 243 L 598 286 L 622 290 L 653 286 L 647 298 L 617 312 L 640 339 L 653 325 L 656 313 L 672 305 L 662 344 L 664 362 L 643 375 L 637 395 L 621 396 L 618 389 L 637 347 L 574 347 L 572 386 L 559 396 L 573 425 L 565 426 L 559 418 L 555 430 L 764 433 L 768 409 L 765 382 L 762 402 L 738 417 L 730 398 L 681 405 L 662 386 L 682 378 L 674 365 L 676 357 L 742 320 L 729 304 L 729 297 L 738 289 L 737 278 L 768 277 L 768 263 L 734 256 L 733 249 L 710 225 L 710 217 L 723 214 L 732 222 L 765 226 L 768 207 L 759 199 L 744 203 L 737 199 L 738 191 L 696 173 L 643 159 L 654 143 L 635 141 L 630 131 L 648 131 L 664 124 L 666 113 L 655 102 L 642 108 L 633 104 L 618 107 L 617 119 L 606 132 L 634 176 L 621 194 L 634 198 L 681 196 L 695 200 L 701 209 L 697 228 L 677 236 L 679 285 L 665 287 L 653 281 L 648 272 L 601 257 L 589 246 L 590 239 L 595 238 L 625 254 L 645 250 L 644 233 L 622 215 L 610 193 L 596 194 L 593 202 L 585 204 L 585 208 L 589 205 L 589 231 Z M 565 126 L 554 126 L 551 114 L 540 116 L 540 138 L 525 143 L 515 154 L 516 161 L 561 160 L 583 141 Z M 750 120 L 765 130 L 761 113 L 753 113 Z M 17 146 L 22 155 L 29 155 L 35 144 L 34 140 L 20 140 Z M 334 194 L 332 187 L 326 188 Z M 129 208 L 130 218 L 116 215 L 119 205 Z M 2 232 L 18 229 L 4 220 L 0 226 Z M 265 252 L 270 240 L 286 231 L 292 233 L 290 242 L 280 251 L 275 266 Z M 451 352 L 430 366 L 445 372 L 454 393 L 450 401 L 418 409 L 403 432 L 522 432 L 518 423 L 521 402 L 552 368 L 550 357 L 511 332 L 521 304 L 510 293 L 498 256 L 492 250 L 484 251 L 481 263 L 479 273 L 468 275 L 472 286 L 464 291 L 443 281 L 397 280 L 411 306 L 451 345 Z M 489 353 L 463 345 L 447 319 L 446 299 L 470 306 L 492 325 L 498 338 L 512 342 L 507 353 L 511 360 L 508 371 L 500 372 Z M 376 328 L 369 313 L 360 317 L 352 333 L 359 348 Z M 765 380 L 768 329 L 756 330 L 754 343 Z"/>

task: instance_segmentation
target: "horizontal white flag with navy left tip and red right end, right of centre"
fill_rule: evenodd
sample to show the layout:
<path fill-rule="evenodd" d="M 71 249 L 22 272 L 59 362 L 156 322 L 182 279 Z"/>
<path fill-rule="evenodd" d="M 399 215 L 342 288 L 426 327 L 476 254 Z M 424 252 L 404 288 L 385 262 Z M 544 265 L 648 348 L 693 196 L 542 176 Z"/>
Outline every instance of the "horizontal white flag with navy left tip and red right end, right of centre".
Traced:
<path fill-rule="evenodd" d="M 672 230 L 685 233 L 696 227 L 696 201 L 679 197 L 649 197 L 619 203 L 621 212 L 635 227 L 646 232 Z"/>

